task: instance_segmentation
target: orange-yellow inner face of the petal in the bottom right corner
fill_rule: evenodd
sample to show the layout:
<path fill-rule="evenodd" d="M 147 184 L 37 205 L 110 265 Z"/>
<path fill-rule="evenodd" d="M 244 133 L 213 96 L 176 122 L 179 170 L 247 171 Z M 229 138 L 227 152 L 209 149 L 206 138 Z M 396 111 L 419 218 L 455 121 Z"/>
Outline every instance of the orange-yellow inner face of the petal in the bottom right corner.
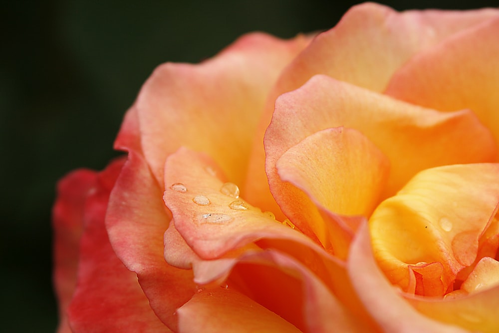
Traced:
<path fill-rule="evenodd" d="M 417 311 L 428 318 L 459 325 L 471 332 L 498 332 L 499 286 L 480 290 L 469 296 L 463 294 L 465 295 L 446 297 L 444 300 L 404 296 Z"/>

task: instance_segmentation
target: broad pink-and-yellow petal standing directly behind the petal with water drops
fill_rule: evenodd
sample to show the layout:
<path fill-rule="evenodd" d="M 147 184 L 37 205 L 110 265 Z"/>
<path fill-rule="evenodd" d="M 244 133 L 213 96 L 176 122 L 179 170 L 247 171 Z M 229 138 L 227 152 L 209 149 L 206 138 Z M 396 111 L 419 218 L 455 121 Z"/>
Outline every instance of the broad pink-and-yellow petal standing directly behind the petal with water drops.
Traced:
<path fill-rule="evenodd" d="M 158 182 L 167 156 L 188 146 L 209 153 L 242 184 L 266 96 L 308 41 L 251 33 L 201 64 L 159 66 L 135 103 L 142 150 Z"/>

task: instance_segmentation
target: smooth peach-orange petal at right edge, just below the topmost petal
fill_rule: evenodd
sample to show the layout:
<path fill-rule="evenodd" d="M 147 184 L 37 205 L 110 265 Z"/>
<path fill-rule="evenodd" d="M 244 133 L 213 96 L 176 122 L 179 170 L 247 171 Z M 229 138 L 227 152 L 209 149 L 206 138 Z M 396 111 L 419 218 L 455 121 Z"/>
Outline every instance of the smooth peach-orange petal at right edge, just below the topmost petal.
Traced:
<path fill-rule="evenodd" d="M 498 31 L 494 18 L 417 54 L 386 93 L 437 110 L 472 109 L 499 142 Z"/>

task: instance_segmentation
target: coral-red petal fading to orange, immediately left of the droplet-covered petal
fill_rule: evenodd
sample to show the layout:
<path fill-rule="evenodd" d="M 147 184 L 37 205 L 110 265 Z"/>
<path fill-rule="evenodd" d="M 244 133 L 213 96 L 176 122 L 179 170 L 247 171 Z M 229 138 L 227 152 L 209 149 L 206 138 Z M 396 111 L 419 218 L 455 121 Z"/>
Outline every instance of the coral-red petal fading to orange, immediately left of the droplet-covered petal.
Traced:
<path fill-rule="evenodd" d="M 137 273 L 156 315 L 175 331 L 175 310 L 194 295 L 196 286 L 191 271 L 172 267 L 163 257 L 170 220 L 162 189 L 144 159 L 130 152 L 110 197 L 109 239 L 120 260 Z"/>

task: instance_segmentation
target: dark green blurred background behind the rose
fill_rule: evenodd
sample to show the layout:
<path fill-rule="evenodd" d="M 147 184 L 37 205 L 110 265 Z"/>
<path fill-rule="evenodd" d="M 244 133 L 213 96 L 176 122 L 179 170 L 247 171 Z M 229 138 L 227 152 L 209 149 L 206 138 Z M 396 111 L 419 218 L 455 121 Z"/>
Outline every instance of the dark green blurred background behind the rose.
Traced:
<path fill-rule="evenodd" d="M 492 0 L 383 1 L 395 9 L 477 8 Z M 152 70 L 199 62 L 254 30 L 325 30 L 356 1 L 9 1 L 0 61 L 2 332 L 54 332 L 50 210 L 57 179 L 100 170 Z"/>

